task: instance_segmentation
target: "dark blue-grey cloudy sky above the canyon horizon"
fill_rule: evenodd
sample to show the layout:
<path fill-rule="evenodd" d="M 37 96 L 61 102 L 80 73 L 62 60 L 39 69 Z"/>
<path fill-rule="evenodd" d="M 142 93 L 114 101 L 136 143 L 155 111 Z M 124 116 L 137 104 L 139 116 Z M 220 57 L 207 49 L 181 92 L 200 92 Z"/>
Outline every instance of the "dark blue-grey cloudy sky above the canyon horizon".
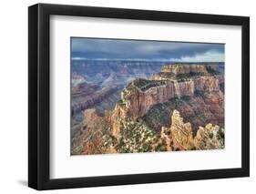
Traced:
<path fill-rule="evenodd" d="M 71 55 L 74 59 L 224 62 L 224 45 L 73 37 Z"/>

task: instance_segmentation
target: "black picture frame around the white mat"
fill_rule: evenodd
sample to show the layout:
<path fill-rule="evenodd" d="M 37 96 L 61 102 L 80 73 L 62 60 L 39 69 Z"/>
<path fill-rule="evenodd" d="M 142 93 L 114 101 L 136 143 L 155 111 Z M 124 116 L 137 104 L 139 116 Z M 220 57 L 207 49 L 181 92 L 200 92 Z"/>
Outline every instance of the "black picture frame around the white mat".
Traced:
<path fill-rule="evenodd" d="M 132 20 L 241 26 L 242 123 L 241 168 L 206 169 L 118 176 L 50 179 L 50 15 L 73 15 Z M 250 176 L 250 18 L 78 5 L 37 4 L 28 7 L 28 186 L 68 189 L 180 180 Z"/>

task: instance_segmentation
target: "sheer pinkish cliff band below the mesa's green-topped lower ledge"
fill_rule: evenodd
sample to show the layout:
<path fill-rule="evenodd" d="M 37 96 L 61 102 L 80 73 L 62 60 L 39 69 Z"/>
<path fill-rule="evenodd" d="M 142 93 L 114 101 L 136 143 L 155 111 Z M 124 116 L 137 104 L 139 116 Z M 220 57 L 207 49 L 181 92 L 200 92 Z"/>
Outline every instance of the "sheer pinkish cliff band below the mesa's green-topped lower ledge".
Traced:
<path fill-rule="evenodd" d="M 143 117 L 152 106 L 167 102 L 173 97 L 194 97 L 195 91 L 218 92 L 220 91 L 219 79 L 215 77 L 196 77 L 182 82 L 166 81 L 163 86 L 151 87 L 144 92 L 132 93 L 126 98 L 128 104 L 127 115 Z"/>

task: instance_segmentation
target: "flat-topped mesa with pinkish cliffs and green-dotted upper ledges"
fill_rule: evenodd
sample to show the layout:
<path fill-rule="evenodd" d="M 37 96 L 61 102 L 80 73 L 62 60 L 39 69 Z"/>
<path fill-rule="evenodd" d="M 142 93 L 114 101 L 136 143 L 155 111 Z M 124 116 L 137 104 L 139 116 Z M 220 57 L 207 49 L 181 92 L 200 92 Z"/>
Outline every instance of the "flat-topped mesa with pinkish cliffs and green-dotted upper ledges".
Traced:
<path fill-rule="evenodd" d="M 165 77 L 159 74 L 151 77 L 152 80 L 137 79 L 131 82 L 121 93 L 124 111 L 129 117 L 143 117 L 153 105 L 167 102 L 173 97 L 193 97 L 196 91 L 220 92 L 220 77 L 213 72 L 217 72 L 215 66 L 163 66 L 161 73 L 175 74 L 181 78 L 167 78 L 167 74 Z M 196 73 L 206 76 L 193 76 Z"/>

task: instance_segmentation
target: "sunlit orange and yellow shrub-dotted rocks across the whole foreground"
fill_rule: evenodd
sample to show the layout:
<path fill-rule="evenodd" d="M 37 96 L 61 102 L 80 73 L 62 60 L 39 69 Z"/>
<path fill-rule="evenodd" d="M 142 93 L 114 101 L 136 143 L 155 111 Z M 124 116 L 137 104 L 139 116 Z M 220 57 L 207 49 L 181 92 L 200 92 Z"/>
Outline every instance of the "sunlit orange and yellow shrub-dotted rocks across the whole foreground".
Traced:
<path fill-rule="evenodd" d="M 162 127 L 160 132 L 148 128 L 141 120 L 124 117 L 123 114 L 122 109 L 118 109 L 105 117 L 98 117 L 95 109 L 87 109 L 84 112 L 84 129 L 72 140 L 72 154 L 224 148 L 223 128 L 209 123 L 204 128 L 199 127 L 194 136 L 191 124 L 184 122 L 177 109 L 170 114 L 170 126 Z"/>

